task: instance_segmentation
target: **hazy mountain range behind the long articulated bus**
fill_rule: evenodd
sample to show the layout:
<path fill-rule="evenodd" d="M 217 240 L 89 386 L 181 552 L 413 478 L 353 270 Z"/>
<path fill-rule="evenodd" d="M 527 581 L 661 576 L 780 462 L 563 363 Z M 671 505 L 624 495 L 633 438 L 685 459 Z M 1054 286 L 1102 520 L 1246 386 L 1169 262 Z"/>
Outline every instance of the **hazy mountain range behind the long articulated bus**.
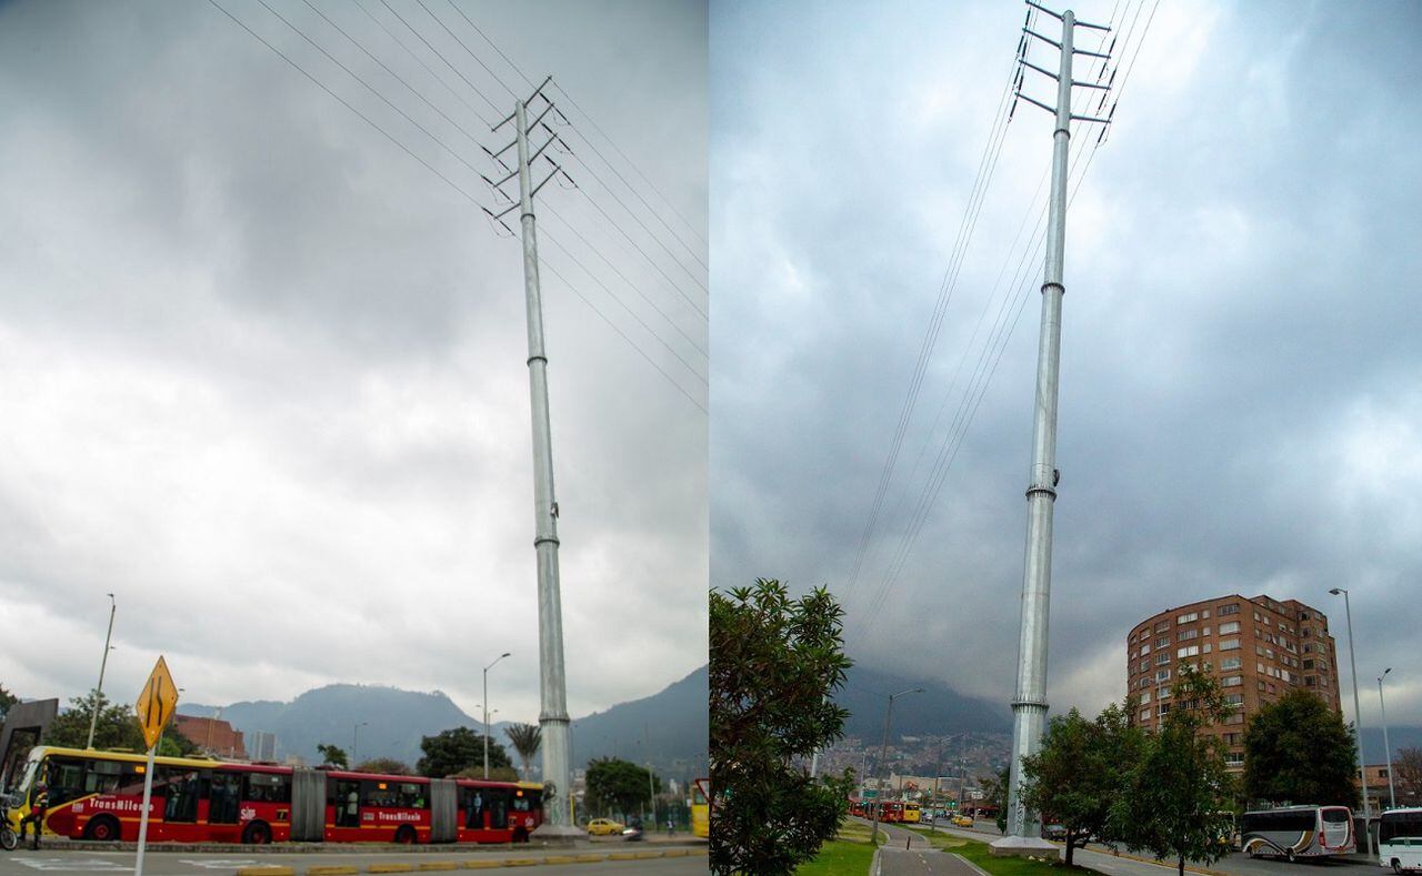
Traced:
<path fill-rule="evenodd" d="M 704 775 L 707 698 L 707 668 L 701 667 L 651 697 L 574 718 L 573 764 L 582 766 L 594 758 L 621 757 L 638 764 L 650 759 L 654 769 L 673 778 Z M 476 718 L 465 714 L 442 691 L 365 684 L 328 684 L 309 690 L 290 703 L 192 704 L 181 705 L 178 711 L 195 717 L 218 715 L 246 735 L 249 748 L 255 732 L 274 732 L 279 758 L 293 754 L 309 762 L 320 761 L 317 745 L 331 744 L 361 761 L 383 757 L 414 766 L 422 755 L 422 737 L 455 727 L 482 730 Z M 508 725 L 495 722 L 492 737 L 512 755 L 512 745 L 503 735 Z M 648 747 L 650 758 L 646 754 Z"/>

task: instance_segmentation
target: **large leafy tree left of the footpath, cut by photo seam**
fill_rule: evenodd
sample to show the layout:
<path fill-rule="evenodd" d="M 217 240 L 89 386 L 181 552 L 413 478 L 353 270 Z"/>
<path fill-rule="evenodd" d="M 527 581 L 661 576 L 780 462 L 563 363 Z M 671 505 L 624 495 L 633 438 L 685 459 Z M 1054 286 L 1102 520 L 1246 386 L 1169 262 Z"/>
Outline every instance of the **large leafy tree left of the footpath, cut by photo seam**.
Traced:
<path fill-rule="evenodd" d="M 823 587 L 791 599 L 759 579 L 711 592 L 711 870 L 789 873 L 845 818 L 848 778 L 803 764 L 843 735 L 843 609 Z"/>

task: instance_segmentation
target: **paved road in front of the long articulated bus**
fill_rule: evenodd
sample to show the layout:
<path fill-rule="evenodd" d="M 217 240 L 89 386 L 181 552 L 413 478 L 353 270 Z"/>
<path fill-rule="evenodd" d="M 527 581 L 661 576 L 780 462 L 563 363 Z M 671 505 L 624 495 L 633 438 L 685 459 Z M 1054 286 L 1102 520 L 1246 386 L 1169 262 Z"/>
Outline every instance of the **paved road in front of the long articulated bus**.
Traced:
<path fill-rule="evenodd" d="M 402 855 L 402 853 L 270 853 L 270 855 L 233 855 L 195 853 L 195 852 L 149 852 L 144 856 L 145 876 L 232 876 L 240 867 L 252 866 L 287 866 L 296 873 L 304 873 L 309 867 L 317 866 L 354 866 L 368 867 L 371 865 L 408 863 L 415 867 L 411 876 L 421 876 L 419 865 L 432 862 L 478 860 L 493 862 L 503 859 L 542 859 L 545 856 L 569 856 L 609 852 L 627 852 L 643 849 L 579 849 L 579 850 L 533 850 L 533 852 L 474 852 L 447 855 Z M 70 849 L 17 849 L 14 852 L 0 852 L 0 876 L 104 876 L 125 875 L 134 872 L 132 852 L 87 852 Z M 454 870 L 462 873 L 464 870 Z M 648 860 L 603 860 L 600 863 L 549 863 L 532 870 L 539 875 L 562 873 L 637 873 L 647 876 L 684 876 L 688 873 L 705 873 L 707 859 L 701 856 L 688 858 L 658 858 Z M 364 875 L 363 875 L 364 876 Z"/>

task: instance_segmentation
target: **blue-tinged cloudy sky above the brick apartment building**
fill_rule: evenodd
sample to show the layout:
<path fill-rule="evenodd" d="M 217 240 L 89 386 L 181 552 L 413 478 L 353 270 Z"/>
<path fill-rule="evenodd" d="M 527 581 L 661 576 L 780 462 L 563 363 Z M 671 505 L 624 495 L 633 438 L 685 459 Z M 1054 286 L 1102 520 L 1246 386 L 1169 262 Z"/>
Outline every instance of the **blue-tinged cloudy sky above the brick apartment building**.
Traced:
<path fill-rule="evenodd" d="M 1030 239 L 1052 121 L 1020 104 L 988 145 L 1025 11 L 785 3 L 711 17 L 712 582 L 828 584 L 857 658 L 1000 701 L 1015 675 Z M 1096 127 L 1074 138 L 1074 181 L 1089 172 L 1066 229 L 1048 700 L 1121 698 L 1132 624 L 1227 593 L 1328 613 L 1347 677 L 1344 604 L 1327 594 L 1341 586 L 1364 721 L 1391 666 L 1389 720 L 1422 724 L 1422 10 L 1075 11 L 1116 27 L 1103 111 L 1119 108 L 1099 151 Z M 1055 67 L 1052 53 L 1030 57 Z M 1096 80 L 1089 58 L 1075 78 Z M 1027 73 L 1025 91 L 1052 102 L 1048 85 Z M 1096 111 L 1088 100 L 1079 112 Z"/>

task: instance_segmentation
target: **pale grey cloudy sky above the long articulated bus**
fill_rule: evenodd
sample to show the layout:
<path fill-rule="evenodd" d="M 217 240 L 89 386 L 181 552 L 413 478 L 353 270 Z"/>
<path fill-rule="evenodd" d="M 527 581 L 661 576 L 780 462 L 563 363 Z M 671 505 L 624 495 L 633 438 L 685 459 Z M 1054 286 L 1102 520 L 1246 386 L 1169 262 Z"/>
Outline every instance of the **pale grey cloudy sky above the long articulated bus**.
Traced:
<path fill-rule="evenodd" d="M 191 703 L 472 714 L 512 651 L 489 700 L 536 721 L 522 260 L 479 209 L 509 61 L 579 185 L 539 195 L 570 711 L 705 663 L 702 6 L 10 1 L 9 690 L 91 688 L 112 592 L 119 700 L 165 654 Z"/>

